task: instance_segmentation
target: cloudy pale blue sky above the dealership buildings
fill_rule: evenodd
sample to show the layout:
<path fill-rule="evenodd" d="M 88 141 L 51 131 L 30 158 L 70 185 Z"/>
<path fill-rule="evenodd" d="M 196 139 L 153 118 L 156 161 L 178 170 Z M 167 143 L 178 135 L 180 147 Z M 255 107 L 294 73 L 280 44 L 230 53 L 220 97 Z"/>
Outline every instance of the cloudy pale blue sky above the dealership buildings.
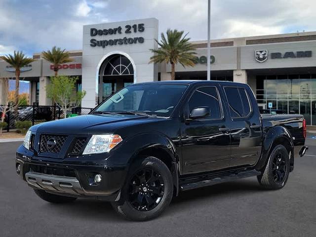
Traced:
<path fill-rule="evenodd" d="M 211 0 L 211 38 L 316 31 L 315 0 Z M 156 17 L 207 39 L 207 0 L 0 0 L 0 55 L 82 48 L 82 25 Z"/>

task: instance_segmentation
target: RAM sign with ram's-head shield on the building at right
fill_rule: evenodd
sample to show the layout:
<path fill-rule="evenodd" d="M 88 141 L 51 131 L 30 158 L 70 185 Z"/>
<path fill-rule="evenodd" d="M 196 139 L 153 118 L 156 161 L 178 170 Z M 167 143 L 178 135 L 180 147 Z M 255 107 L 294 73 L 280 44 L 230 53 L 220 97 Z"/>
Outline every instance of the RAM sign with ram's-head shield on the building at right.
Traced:
<path fill-rule="evenodd" d="M 271 59 L 286 59 L 286 58 L 311 58 L 312 57 L 312 51 L 290 51 L 285 53 L 280 52 L 272 52 L 270 54 Z M 267 61 L 268 59 L 268 50 L 267 49 L 260 49 L 255 50 L 255 59 L 259 63 L 263 63 Z"/>

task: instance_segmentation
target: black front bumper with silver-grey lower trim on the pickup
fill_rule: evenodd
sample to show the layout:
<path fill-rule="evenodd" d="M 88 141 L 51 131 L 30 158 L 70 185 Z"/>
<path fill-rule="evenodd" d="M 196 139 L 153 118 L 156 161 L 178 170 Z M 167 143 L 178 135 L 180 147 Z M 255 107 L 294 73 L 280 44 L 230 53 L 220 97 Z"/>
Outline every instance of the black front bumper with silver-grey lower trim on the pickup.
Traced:
<path fill-rule="evenodd" d="M 62 196 L 92 197 L 108 201 L 119 199 L 126 177 L 125 167 L 39 161 L 19 153 L 16 168 L 21 178 L 34 189 Z M 94 181 L 96 174 L 102 175 L 100 183 Z"/>

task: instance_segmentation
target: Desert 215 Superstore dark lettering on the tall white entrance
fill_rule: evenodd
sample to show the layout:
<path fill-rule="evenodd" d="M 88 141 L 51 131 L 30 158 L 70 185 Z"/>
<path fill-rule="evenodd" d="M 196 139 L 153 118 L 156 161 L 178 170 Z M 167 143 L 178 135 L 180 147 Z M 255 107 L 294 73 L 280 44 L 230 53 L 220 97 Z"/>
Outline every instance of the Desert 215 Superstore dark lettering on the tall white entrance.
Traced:
<path fill-rule="evenodd" d="M 124 27 L 118 26 L 116 28 L 109 28 L 109 29 L 90 29 L 90 36 L 111 36 L 111 35 L 122 35 L 125 34 L 126 37 L 111 39 L 111 40 L 96 40 L 92 38 L 90 40 L 90 46 L 95 47 L 107 47 L 112 45 L 123 45 L 123 44 L 135 44 L 135 43 L 143 43 L 145 39 L 143 37 L 128 37 L 131 33 L 142 33 L 145 31 L 145 25 L 141 24 L 134 24 L 134 25 L 125 25 Z"/>

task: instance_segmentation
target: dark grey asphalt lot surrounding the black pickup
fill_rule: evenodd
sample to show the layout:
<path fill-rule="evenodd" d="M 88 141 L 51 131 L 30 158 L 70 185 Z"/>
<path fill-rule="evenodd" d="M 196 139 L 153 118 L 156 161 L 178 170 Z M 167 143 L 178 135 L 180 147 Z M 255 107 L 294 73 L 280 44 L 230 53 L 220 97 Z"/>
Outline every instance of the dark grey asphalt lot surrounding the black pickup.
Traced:
<path fill-rule="evenodd" d="M 256 178 L 184 192 L 157 219 L 122 220 L 110 203 L 78 199 L 54 205 L 15 174 L 21 142 L 0 143 L 0 237 L 312 237 L 316 233 L 316 133 L 287 185 L 262 190 Z"/>

